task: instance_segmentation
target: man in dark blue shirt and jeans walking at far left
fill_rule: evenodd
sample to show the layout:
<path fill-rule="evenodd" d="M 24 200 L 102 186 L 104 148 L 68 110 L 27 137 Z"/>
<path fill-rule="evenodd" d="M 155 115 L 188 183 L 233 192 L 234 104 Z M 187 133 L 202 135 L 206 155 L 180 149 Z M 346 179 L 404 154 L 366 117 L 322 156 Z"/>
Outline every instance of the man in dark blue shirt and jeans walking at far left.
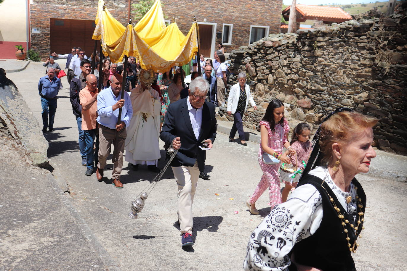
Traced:
<path fill-rule="evenodd" d="M 55 77 L 55 69 L 48 68 L 47 76 L 39 78 L 38 92 L 42 107 L 42 132 L 54 131 L 54 118 L 57 111 L 57 95 L 61 88 L 61 80 Z M 49 122 L 48 122 L 49 115 Z"/>

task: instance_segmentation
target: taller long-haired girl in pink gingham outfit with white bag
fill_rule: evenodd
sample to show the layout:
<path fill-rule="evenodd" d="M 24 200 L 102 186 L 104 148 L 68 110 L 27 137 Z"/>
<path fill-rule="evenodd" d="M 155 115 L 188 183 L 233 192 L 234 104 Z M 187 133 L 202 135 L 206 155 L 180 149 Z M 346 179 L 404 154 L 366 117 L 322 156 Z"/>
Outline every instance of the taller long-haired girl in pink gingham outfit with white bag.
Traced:
<path fill-rule="evenodd" d="M 249 207 L 249 210 L 253 215 L 259 214 L 255 203 L 267 188 L 270 189 L 269 195 L 271 208 L 274 208 L 274 206 L 281 203 L 280 176 L 278 173 L 280 163 L 276 165 L 265 164 L 263 162 L 263 154 L 267 152 L 278 158 L 280 161 L 289 163 L 290 159 L 282 154 L 283 147 L 286 147 L 290 154 L 295 154 L 295 151 L 287 140 L 289 130 L 290 127 L 288 122 L 284 119 L 284 104 L 278 99 L 272 100 L 269 106 L 267 106 L 263 119 L 260 121 L 261 142 L 260 150 L 258 152 L 258 163 L 263 171 L 263 176 L 257 184 L 252 197 L 246 202 L 247 207 Z"/>

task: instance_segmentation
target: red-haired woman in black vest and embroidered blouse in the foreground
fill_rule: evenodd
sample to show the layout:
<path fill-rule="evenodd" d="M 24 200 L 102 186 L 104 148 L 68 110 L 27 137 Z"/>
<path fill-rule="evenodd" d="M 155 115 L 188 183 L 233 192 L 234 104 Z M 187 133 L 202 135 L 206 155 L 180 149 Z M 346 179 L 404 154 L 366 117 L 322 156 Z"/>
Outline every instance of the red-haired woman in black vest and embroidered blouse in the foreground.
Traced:
<path fill-rule="evenodd" d="M 326 117 L 299 186 L 252 233 L 245 270 L 353 271 L 377 119 L 348 108 Z"/>

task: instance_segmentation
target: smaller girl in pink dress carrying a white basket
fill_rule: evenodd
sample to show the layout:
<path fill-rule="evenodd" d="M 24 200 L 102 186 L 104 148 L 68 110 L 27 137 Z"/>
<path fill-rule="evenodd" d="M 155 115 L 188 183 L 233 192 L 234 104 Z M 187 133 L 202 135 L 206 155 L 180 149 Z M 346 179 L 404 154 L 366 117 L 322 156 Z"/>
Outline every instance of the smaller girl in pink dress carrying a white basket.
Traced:
<path fill-rule="evenodd" d="M 291 147 L 297 153 L 296 155 L 291 155 L 290 160 L 291 164 L 293 164 L 293 168 L 295 168 L 295 164 L 299 169 L 304 169 L 304 165 L 302 161 L 305 163 L 308 162 L 309 154 L 311 153 L 311 142 L 309 141 L 309 135 L 311 134 L 311 127 L 309 124 L 302 122 L 295 126 L 293 131 L 293 137 L 291 138 L 290 144 Z M 284 154 L 288 154 L 288 151 Z M 295 156 L 297 159 L 295 159 Z M 291 189 L 297 186 L 298 182 L 290 182 L 284 181 L 285 187 L 281 193 L 282 202 L 287 201 L 288 193 L 290 193 Z"/>

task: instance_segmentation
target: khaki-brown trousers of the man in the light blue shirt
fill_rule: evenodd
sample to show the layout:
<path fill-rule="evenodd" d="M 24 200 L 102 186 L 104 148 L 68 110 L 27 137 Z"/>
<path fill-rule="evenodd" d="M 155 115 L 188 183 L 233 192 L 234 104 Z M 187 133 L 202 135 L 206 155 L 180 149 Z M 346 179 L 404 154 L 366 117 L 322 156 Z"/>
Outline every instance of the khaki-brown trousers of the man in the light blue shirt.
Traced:
<path fill-rule="evenodd" d="M 119 151 L 118 159 L 113 163 L 112 179 L 120 178 L 123 168 L 123 152 L 125 148 L 125 139 L 127 136 L 126 129 L 119 132 L 118 141 L 116 139 L 116 129 L 112 130 L 103 125 L 99 127 L 99 163 L 98 168 L 104 169 L 106 166 L 106 158 L 112 150 L 112 143 L 114 148 Z"/>

